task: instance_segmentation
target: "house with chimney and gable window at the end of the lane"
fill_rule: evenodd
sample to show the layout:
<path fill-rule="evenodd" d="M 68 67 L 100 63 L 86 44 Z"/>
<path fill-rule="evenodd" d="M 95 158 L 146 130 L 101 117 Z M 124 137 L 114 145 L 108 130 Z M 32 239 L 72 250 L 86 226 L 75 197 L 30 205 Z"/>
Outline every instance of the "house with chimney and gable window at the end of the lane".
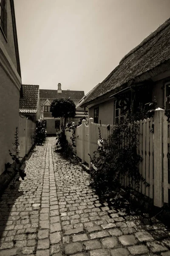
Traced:
<path fill-rule="evenodd" d="M 85 95 L 84 91 L 78 90 L 62 90 L 61 84 L 58 84 L 57 90 L 40 89 L 40 118 L 44 119 L 47 134 L 56 134 L 60 129 L 60 118 L 54 118 L 50 112 L 51 102 L 54 99 L 72 99 L 77 105 L 79 100 Z M 80 110 L 82 110 L 80 108 Z M 76 116 L 72 119 L 77 123 L 82 117 L 82 111 L 76 110 Z"/>

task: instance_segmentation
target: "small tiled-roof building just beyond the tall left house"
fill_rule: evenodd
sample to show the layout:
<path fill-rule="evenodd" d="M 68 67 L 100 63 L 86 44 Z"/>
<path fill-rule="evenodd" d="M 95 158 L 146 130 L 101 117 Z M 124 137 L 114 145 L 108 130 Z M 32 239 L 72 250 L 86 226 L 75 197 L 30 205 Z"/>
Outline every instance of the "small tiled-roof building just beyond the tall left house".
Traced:
<path fill-rule="evenodd" d="M 40 119 L 39 85 L 23 84 L 23 97 L 20 98 L 20 113 L 33 121 Z"/>

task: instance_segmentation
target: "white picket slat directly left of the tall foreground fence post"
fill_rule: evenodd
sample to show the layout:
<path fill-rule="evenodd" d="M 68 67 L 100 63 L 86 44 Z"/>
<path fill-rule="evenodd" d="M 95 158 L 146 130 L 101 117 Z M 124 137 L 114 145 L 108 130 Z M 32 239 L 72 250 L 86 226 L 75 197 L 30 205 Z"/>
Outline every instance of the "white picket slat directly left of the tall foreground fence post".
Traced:
<path fill-rule="evenodd" d="M 149 197 L 153 198 L 153 117 L 150 118 Z"/>

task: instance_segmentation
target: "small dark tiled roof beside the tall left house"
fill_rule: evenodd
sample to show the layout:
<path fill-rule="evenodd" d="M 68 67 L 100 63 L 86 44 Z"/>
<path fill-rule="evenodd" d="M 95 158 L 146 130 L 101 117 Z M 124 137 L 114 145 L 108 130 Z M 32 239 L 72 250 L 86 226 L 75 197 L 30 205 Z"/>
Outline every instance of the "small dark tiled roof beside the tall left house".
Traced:
<path fill-rule="evenodd" d="M 23 98 L 20 98 L 20 113 L 36 113 L 39 85 L 23 84 Z"/>

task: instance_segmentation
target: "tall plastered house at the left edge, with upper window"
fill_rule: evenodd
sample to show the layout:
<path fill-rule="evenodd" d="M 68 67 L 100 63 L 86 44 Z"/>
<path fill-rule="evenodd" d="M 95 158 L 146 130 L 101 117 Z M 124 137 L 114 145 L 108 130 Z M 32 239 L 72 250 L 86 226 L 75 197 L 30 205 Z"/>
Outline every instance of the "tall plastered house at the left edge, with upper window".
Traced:
<path fill-rule="evenodd" d="M 0 180 L 5 163 L 11 163 L 19 101 L 23 96 L 14 0 L 0 1 Z"/>

